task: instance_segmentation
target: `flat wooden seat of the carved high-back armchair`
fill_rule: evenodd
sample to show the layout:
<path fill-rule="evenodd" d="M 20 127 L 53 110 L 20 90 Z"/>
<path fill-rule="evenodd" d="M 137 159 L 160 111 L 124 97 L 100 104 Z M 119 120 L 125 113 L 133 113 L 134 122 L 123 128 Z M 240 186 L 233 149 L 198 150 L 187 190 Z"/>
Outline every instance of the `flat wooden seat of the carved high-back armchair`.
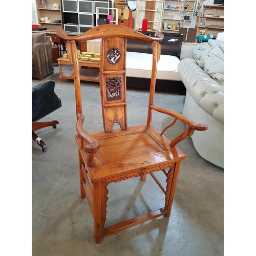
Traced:
<path fill-rule="evenodd" d="M 179 148 L 170 147 L 170 141 L 154 126 L 138 125 L 90 135 L 100 143 L 94 166 L 87 166 L 92 183 L 103 180 L 117 182 L 120 178 L 146 175 L 166 169 L 186 157 Z M 75 137 L 85 163 L 87 153 L 82 151 L 81 139 Z"/>

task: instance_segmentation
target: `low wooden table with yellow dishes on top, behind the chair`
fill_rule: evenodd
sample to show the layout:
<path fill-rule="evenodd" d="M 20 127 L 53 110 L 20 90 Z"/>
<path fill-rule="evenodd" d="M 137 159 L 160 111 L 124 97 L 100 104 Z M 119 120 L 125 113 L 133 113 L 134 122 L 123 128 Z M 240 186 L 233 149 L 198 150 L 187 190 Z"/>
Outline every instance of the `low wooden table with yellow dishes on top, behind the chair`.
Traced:
<path fill-rule="evenodd" d="M 74 70 L 73 67 L 62 74 L 62 68 L 61 65 L 71 65 L 71 62 L 68 58 L 58 58 L 58 66 L 59 66 L 59 80 L 62 82 L 62 79 L 73 79 L 74 80 Z M 94 62 L 94 61 L 83 61 L 79 60 L 79 66 L 80 68 L 80 80 L 81 81 L 91 81 L 91 82 L 99 82 L 99 65 L 100 62 Z M 91 67 L 91 68 L 97 68 L 97 69 L 87 69 L 82 67 Z"/>

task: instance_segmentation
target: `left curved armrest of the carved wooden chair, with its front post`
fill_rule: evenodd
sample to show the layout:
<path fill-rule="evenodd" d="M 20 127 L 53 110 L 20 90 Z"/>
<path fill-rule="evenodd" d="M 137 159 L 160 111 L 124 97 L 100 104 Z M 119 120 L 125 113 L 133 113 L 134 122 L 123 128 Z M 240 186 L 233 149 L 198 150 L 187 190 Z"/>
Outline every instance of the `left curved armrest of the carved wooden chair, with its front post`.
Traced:
<path fill-rule="evenodd" d="M 84 115 L 82 113 L 77 113 L 77 123 L 76 131 L 78 137 L 82 139 L 82 150 L 89 153 L 87 158 L 87 164 L 93 166 L 93 157 L 95 153 L 99 150 L 99 142 L 94 139 L 86 130 L 83 129 Z"/>

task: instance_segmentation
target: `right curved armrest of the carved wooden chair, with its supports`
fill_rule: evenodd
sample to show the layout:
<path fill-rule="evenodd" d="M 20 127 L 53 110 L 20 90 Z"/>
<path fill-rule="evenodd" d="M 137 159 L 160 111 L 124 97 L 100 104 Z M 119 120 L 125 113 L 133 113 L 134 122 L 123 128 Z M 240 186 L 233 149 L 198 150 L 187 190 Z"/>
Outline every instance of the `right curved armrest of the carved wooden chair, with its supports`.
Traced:
<path fill-rule="evenodd" d="M 172 110 L 167 110 L 167 109 L 163 109 L 160 108 L 159 106 L 156 105 L 151 105 L 150 108 L 152 110 L 155 110 L 157 112 L 169 115 L 174 117 L 174 121 L 166 126 L 163 131 L 161 132 L 161 135 L 163 135 L 163 133 L 169 128 L 172 127 L 177 120 L 180 120 L 181 122 L 185 123 L 187 125 L 186 129 L 177 137 L 175 137 L 171 142 L 170 142 L 170 146 L 171 147 L 175 147 L 179 142 L 181 142 L 182 140 L 184 140 L 188 135 L 191 136 L 193 135 L 194 131 L 206 131 L 208 129 L 208 125 L 204 124 L 204 123 L 195 123 L 193 121 L 191 121 L 190 119 L 188 119 L 187 117 L 183 116 L 182 114 L 179 114 L 175 111 Z"/>

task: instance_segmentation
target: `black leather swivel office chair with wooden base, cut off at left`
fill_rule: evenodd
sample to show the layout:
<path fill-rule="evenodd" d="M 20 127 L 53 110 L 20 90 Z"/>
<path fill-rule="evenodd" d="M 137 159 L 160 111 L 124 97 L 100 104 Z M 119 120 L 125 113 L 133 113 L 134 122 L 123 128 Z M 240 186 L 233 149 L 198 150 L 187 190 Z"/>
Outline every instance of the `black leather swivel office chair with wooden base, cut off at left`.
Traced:
<path fill-rule="evenodd" d="M 47 146 L 35 134 L 35 131 L 47 126 L 56 128 L 56 124 L 59 123 L 57 120 L 37 122 L 61 107 L 61 100 L 55 94 L 54 88 L 55 82 L 53 80 L 46 80 L 32 88 L 32 140 L 42 148 L 42 152 L 47 151 Z"/>

